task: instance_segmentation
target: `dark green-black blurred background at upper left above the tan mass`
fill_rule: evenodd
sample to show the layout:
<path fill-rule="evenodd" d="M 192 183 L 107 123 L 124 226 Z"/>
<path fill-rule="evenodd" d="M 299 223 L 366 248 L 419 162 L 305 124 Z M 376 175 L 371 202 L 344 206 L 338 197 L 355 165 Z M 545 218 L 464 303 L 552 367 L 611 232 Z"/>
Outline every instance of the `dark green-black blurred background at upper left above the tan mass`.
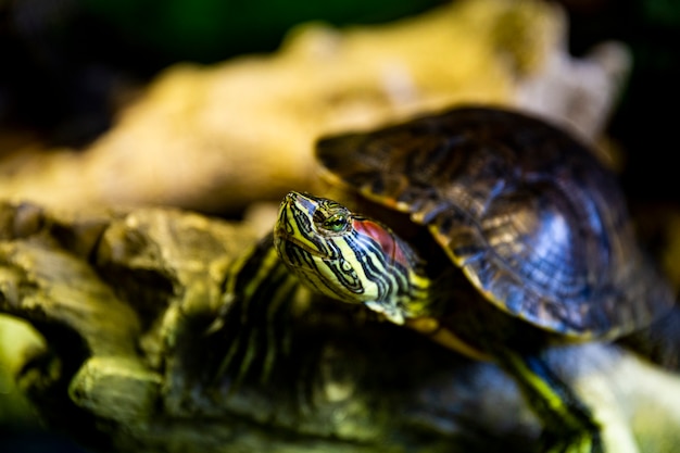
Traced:
<path fill-rule="evenodd" d="M 441 1 L 15 0 L 0 3 L 2 129 L 85 146 L 116 96 L 180 61 L 277 49 L 295 24 L 380 23 Z M 13 135 L 13 134 L 11 134 Z M 4 144 L 8 147 L 9 144 Z"/>

